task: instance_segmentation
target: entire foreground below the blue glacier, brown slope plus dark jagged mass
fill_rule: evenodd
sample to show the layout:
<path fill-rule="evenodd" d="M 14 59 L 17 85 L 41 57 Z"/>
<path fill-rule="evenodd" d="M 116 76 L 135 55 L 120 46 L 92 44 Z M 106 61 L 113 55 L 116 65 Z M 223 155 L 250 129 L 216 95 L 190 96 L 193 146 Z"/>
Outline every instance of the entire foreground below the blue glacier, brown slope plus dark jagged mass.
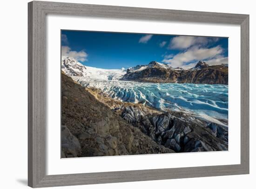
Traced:
<path fill-rule="evenodd" d="M 61 157 L 228 150 L 228 128 L 84 88 L 61 74 Z"/>

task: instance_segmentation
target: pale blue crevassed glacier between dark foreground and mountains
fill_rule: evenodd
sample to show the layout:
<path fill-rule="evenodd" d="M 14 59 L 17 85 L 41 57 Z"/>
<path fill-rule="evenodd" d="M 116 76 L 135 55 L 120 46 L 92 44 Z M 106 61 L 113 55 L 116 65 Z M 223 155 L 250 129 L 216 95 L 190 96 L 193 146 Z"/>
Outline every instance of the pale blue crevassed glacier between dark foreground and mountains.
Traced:
<path fill-rule="evenodd" d="M 228 120 L 228 85 L 142 83 L 79 76 L 72 78 L 84 87 L 101 89 L 115 100 L 142 103 L 162 111 L 193 113 L 195 117 L 218 124 L 219 120 L 225 120 L 225 123 Z"/>

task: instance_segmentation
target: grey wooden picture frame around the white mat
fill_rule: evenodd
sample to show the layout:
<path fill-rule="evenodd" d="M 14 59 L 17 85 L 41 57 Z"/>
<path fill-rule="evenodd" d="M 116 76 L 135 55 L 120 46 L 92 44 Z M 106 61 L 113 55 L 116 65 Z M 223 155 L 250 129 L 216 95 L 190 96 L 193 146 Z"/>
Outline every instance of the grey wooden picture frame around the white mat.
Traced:
<path fill-rule="evenodd" d="M 241 164 L 46 175 L 47 14 L 240 25 Z M 249 174 L 249 15 L 44 1 L 32 1 L 28 3 L 28 185 L 30 187 L 118 183 L 238 174 Z"/>

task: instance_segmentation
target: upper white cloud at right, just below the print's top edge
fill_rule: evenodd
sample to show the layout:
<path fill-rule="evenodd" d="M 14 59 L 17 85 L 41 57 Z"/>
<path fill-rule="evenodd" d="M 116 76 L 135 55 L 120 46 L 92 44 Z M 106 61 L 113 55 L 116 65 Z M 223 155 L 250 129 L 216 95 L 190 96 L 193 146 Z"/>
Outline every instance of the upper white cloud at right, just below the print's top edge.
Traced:
<path fill-rule="evenodd" d="M 211 42 L 216 42 L 215 37 L 177 36 L 170 40 L 168 49 L 188 49 L 191 46 L 204 46 Z"/>

